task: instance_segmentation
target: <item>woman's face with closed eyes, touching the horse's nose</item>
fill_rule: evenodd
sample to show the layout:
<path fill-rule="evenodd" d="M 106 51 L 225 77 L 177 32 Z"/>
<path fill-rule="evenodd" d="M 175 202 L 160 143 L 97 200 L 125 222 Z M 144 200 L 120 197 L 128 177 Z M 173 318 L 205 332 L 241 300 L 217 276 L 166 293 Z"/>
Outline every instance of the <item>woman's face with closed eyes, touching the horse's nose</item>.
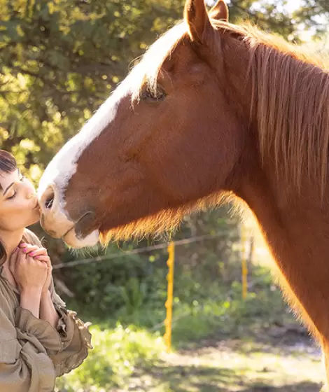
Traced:
<path fill-rule="evenodd" d="M 36 223 L 40 212 L 31 181 L 16 169 L 0 172 L 0 185 L 0 230 L 21 230 Z"/>

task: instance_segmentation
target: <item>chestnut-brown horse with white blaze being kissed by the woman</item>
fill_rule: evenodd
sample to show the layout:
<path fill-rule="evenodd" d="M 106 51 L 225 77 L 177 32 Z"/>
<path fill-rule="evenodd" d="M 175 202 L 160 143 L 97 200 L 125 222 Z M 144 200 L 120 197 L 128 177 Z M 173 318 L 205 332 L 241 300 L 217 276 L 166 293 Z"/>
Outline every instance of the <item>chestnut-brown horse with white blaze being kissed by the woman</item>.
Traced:
<path fill-rule="evenodd" d="M 146 52 L 39 188 L 43 228 L 73 247 L 158 233 L 235 195 L 253 211 L 329 377 L 329 75 L 223 0 Z"/>

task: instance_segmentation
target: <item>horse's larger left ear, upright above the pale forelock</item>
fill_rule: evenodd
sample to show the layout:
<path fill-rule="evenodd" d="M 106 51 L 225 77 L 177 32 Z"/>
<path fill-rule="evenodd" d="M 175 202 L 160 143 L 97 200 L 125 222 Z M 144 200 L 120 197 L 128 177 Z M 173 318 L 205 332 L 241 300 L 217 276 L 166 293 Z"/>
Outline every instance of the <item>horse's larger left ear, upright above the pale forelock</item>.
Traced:
<path fill-rule="evenodd" d="M 213 29 L 204 0 L 186 0 L 184 18 L 188 23 L 188 34 L 192 41 L 205 43 Z"/>

